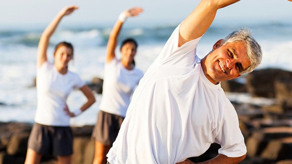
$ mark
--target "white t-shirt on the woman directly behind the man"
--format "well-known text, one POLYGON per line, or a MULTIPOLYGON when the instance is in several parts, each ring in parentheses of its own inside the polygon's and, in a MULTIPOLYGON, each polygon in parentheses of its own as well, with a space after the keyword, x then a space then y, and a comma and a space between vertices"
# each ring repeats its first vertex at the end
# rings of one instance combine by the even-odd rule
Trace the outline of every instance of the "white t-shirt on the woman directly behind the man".
POLYGON ((136 67, 128 70, 116 58, 111 60, 105 66, 99 109, 125 117, 133 90, 142 77, 143 72, 136 67))

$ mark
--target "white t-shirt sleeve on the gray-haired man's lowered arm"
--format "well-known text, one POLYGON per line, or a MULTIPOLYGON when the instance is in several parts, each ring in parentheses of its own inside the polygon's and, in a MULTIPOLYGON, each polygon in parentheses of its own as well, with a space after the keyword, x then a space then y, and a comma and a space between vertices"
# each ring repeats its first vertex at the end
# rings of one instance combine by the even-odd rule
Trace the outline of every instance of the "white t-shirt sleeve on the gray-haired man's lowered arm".
POLYGON ((247 152, 237 113, 230 102, 225 108, 222 127, 215 142, 221 145, 218 153, 227 157, 240 157, 247 152))

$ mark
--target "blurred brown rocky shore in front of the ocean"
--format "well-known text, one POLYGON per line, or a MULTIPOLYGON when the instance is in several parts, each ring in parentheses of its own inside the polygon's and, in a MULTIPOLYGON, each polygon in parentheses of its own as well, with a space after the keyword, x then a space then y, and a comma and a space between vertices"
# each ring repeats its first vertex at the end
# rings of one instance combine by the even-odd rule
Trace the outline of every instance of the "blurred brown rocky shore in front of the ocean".
MULTIPOLYGON (((280 69, 256 70, 244 77, 245 82, 222 82, 228 93, 248 93, 254 98, 271 98, 274 104, 255 105, 232 101, 245 137, 247 157, 240 164, 292 164, 292 72, 280 69)), ((102 92, 102 79, 89 84, 96 93, 102 92)), ((32 125, 28 123, 0 123, 0 164, 23 164, 27 140, 32 125)), ((72 164, 91 164, 94 142, 93 126, 73 127, 72 164)), ((218 154, 218 144, 212 144, 200 157, 201 162, 218 154)), ((41 164, 56 164, 56 159, 44 156, 41 164)))

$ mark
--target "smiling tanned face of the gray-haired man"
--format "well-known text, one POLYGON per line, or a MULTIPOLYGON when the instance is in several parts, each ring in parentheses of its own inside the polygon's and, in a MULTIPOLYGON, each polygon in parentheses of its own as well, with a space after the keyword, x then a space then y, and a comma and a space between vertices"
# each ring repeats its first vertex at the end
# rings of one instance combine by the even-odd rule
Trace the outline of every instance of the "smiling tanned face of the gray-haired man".
POLYGON ((222 39, 213 46, 213 50, 202 59, 203 72, 214 84, 237 78, 240 72, 250 65, 243 42, 226 43, 222 39))

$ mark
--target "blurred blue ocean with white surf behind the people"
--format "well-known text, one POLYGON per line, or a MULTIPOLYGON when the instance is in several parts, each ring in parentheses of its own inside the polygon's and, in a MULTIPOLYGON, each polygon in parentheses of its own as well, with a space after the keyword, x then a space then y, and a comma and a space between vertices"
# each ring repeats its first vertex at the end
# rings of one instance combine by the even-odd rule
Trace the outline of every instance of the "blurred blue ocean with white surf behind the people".
MULTIPOLYGON (((179 22, 168 24, 125 25, 119 40, 133 37, 139 47, 136 66, 144 72, 154 61, 164 43, 179 22)), ((106 45, 112 25, 60 26, 50 40, 48 60, 53 61, 56 43, 69 41, 74 46, 74 59, 69 69, 85 82, 104 76, 106 45)), ((214 23, 199 43, 197 53, 203 57, 220 38, 240 27, 248 27, 263 50, 262 64, 257 69, 281 68, 292 71, 292 23, 285 21, 256 21, 253 23, 214 23)), ((45 26, 0 28, 0 121, 34 122, 37 105, 36 77, 37 44, 45 26)), ((119 47, 116 49, 119 58, 119 47)), ((268 75, 267 75, 268 76, 268 75)), ((238 79, 244 82, 244 78, 238 79)), ((226 93, 231 100, 255 104, 273 104, 266 98, 251 98, 248 94, 226 93)), ((74 126, 94 125, 102 95, 82 115, 71 119, 74 126)), ((70 109, 81 106, 83 94, 74 90, 68 98, 70 109)))

